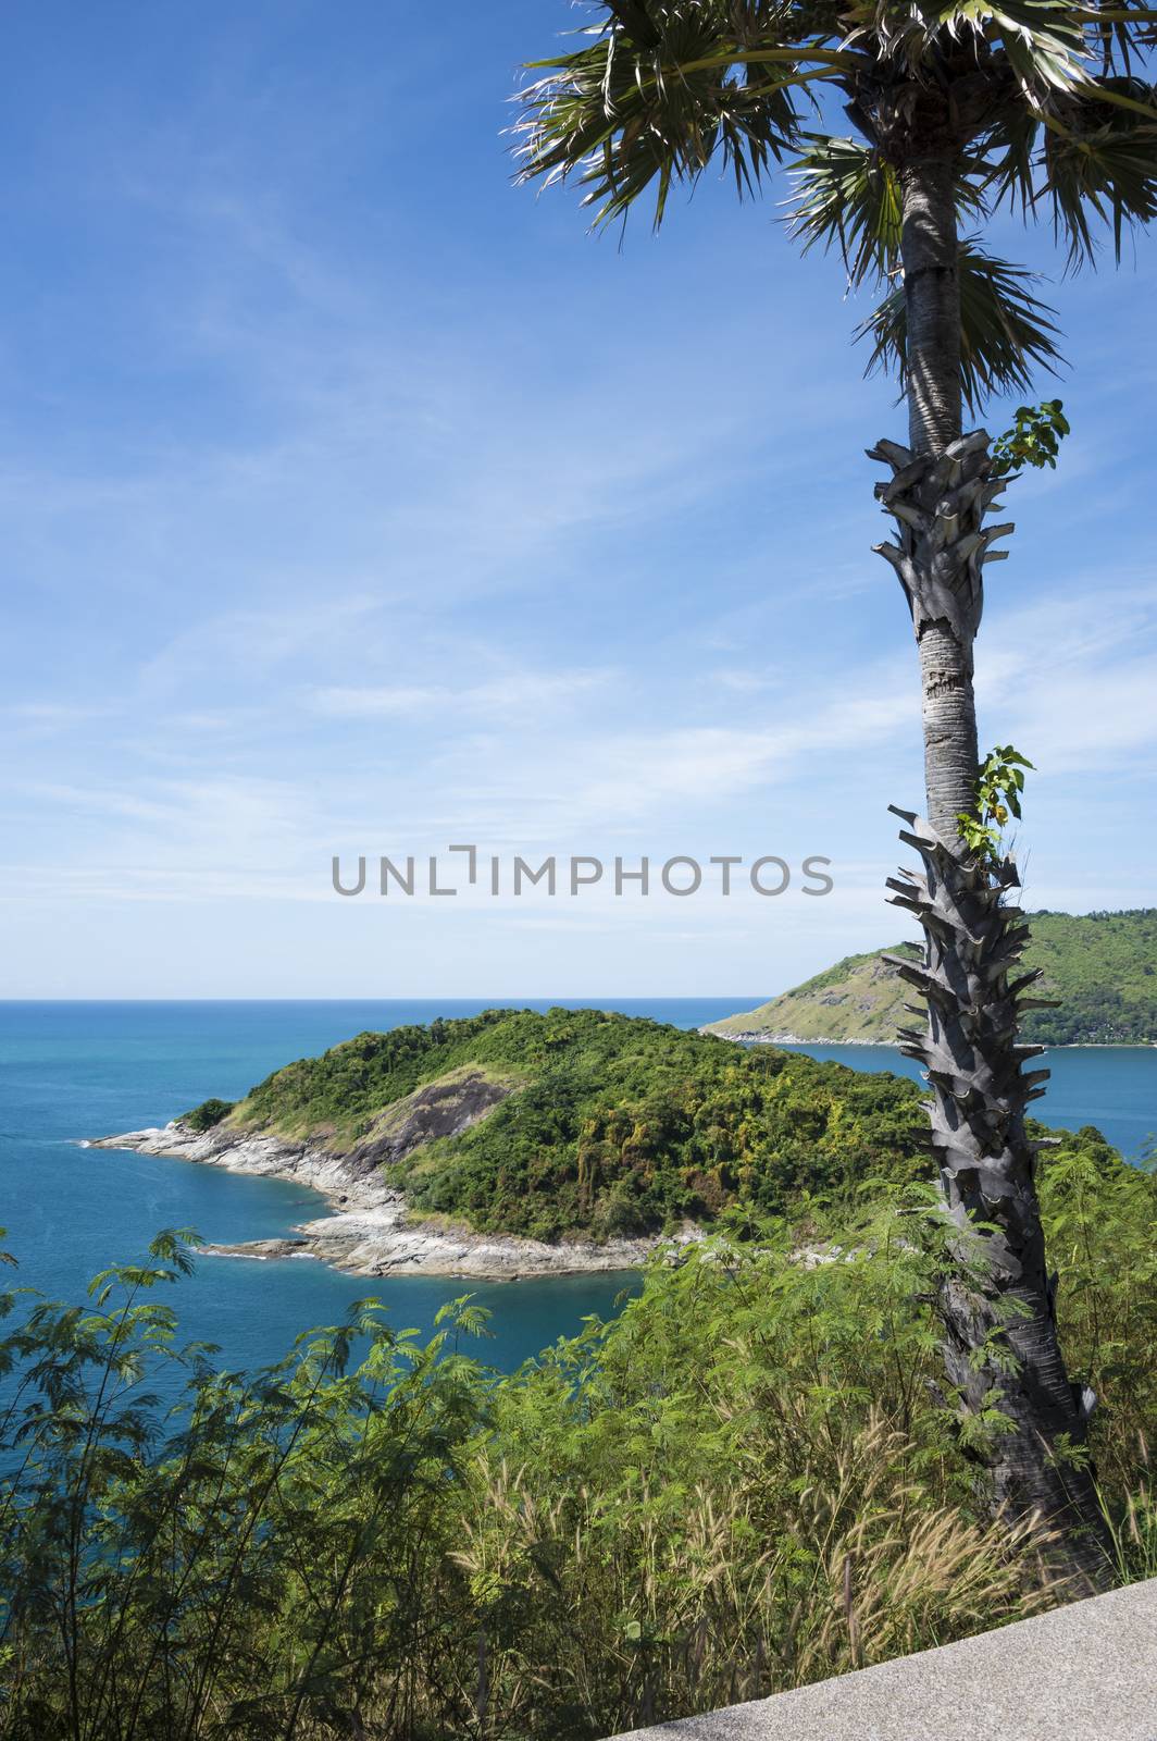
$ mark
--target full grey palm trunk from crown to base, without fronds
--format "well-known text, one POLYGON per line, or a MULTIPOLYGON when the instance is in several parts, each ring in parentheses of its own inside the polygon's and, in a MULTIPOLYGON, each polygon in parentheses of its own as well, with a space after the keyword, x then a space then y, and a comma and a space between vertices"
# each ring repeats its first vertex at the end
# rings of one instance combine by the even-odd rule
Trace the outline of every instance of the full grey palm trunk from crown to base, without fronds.
POLYGON ((894 904, 920 919, 926 938, 922 966, 893 958, 924 998, 913 1015, 926 1015, 926 1027, 900 1038, 927 1069, 941 1193, 960 1227, 960 1269, 940 1301, 948 1377, 967 1414, 995 1400, 1009 1424, 988 1438, 993 1504, 1047 1520, 1058 1530, 1053 1569, 1086 1591, 1110 1581, 1103 1522, 1089 1475, 1058 1462, 1054 1452, 1084 1442, 1093 1398, 1075 1395, 1065 1372, 1035 1144, 1025 1133, 1025 1107, 1044 1092, 1047 1071, 1025 1072, 1025 1060, 1042 1048, 1016 1045, 1018 1013, 1037 975, 1011 978, 1028 937, 1020 909, 1004 905, 1018 883, 1014 865, 976 862, 957 822, 974 804, 981 569, 1000 554, 988 541, 1011 526, 985 529, 1002 482, 992 479, 983 430, 967 437, 960 430, 952 164, 910 162, 901 185, 910 446, 880 442, 872 458, 893 470, 877 496, 896 517, 900 541, 877 548, 905 588, 920 653, 929 820, 898 811, 906 825, 901 839, 919 851, 922 874, 905 870, 889 888, 894 904), (966 1262, 976 1241, 980 1274, 966 1262))

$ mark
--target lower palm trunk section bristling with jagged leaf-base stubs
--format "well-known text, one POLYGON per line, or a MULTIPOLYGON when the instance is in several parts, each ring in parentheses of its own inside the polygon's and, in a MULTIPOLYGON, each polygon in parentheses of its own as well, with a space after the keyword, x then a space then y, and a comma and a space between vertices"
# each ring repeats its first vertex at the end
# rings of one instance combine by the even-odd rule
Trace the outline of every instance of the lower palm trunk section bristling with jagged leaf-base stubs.
POLYGON ((1011 1422, 990 1438, 992 1502, 1060 1525, 1054 1570, 1100 1590, 1108 1565, 1093 1485, 1056 1457, 1082 1445, 1094 1398, 1065 1372, 1037 1207, 1039 1144, 1025 1132, 1025 1109, 1049 1072, 1025 1069, 1044 1046, 1016 1043, 1021 1010, 1040 1003, 1025 996, 1039 971, 1014 973, 1028 938, 1020 907, 1004 904, 1016 867, 1007 858, 969 864, 927 822, 896 815, 924 874, 889 879, 893 902, 920 919, 927 938, 922 966, 884 958, 927 1005, 927 1029, 901 1029, 900 1043, 927 1071, 945 1205, 980 1241, 983 1266, 974 1280, 953 1276, 941 1294, 948 1379, 969 1414, 995 1402, 1011 1422), (1000 1358, 1007 1353, 1011 1370, 1000 1358))

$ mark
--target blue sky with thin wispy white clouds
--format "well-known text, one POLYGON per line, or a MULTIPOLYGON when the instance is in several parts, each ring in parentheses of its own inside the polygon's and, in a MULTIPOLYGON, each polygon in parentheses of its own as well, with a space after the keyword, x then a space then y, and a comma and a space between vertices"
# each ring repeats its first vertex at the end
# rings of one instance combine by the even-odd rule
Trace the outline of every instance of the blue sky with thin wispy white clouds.
MULTIPOLYGON (((0 541, 7 996, 771 994, 903 933, 915 649, 868 308, 776 200, 654 239, 510 183, 562 0, 16 9, 0 541), (809 900, 341 900, 477 841, 809 853, 809 900)), ((1049 237, 1014 258, 1060 277, 1049 237)), ((1154 900, 1154 240, 1046 286, 1075 434, 1016 484, 981 736, 1030 905, 1154 900)), ((1007 406, 993 406, 1002 428, 1007 406)))

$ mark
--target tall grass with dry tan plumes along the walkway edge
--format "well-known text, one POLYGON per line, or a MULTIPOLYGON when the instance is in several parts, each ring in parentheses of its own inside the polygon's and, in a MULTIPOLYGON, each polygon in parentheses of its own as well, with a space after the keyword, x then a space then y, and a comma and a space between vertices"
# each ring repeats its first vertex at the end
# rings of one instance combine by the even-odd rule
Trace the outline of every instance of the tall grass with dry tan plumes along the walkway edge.
POLYGON ((870 1412, 830 1487, 778 1492, 771 1530, 739 1483, 668 1496, 675 1515, 642 1480, 633 1504, 590 1485, 545 1501, 525 1471, 491 1468, 454 1553, 482 1616, 482 1732, 713 1710, 1044 1605, 1025 1584, 1030 1532, 922 1502, 905 1449, 870 1412))

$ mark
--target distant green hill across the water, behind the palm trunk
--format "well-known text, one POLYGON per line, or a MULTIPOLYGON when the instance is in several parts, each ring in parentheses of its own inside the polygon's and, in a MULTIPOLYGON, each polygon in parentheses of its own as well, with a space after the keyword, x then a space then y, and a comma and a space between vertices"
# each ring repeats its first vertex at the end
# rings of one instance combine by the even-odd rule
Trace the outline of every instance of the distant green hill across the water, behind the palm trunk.
MULTIPOLYGON (((1044 968, 1040 996, 1056 1010, 1032 1010, 1025 1038, 1044 1045, 1145 1045, 1157 1041, 1157 907, 1131 912, 1033 912, 1025 965, 1044 968)), ((913 952, 913 944, 894 944, 913 952)), ((887 1045, 903 1025, 912 998, 877 949, 846 956, 795 991, 759 1010, 712 1022, 708 1032, 887 1045)))

